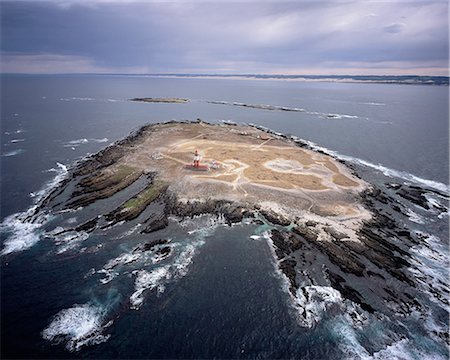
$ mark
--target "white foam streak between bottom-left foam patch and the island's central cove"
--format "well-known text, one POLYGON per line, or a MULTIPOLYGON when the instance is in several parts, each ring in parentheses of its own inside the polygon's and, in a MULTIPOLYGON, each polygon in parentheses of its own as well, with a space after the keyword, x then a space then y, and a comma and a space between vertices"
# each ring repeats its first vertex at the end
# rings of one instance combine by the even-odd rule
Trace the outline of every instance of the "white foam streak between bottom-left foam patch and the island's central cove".
POLYGON ((158 289, 158 292, 164 292, 164 279, 170 279, 170 265, 158 267, 148 272, 146 270, 133 271, 136 275, 134 287, 136 291, 130 296, 131 309, 138 310, 144 302, 143 292, 146 290, 158 289))

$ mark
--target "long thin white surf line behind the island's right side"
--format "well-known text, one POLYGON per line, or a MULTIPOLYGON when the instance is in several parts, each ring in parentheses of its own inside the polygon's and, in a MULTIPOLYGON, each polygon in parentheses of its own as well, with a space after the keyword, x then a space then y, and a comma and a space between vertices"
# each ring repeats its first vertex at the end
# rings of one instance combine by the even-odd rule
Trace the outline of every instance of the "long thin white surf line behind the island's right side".
POLYGON ((419 176, 410 174, 410 173, 408 173, 406 171, 390 169, 390 168, 388 168, 386 166, 383 166, 381 164, 373 164, 373 163, 371 163, 369 161, 362 160, 362 159, 359 159, 359 158, 355 158, 355 157, 352 157, 352 156, 342 155, 342 154, 339 154, 336 151, 333 151, 333 150, 327 149, 325 147, 319 146, 319 145, 315 144, 312 141, 304 141, 304 142, 306 144, 308 144, 314 150, 323 151, 324 153, 326 153, 328 155, 331 155, 331 156, 334 156, 334 157, 336 157, 336 158, 338 158, 340 160, 352 162, 354 164, 363 165, 363 166, 375 169, 375 170, 380 171, 381 173, 383 173, 385 176, 388 176, 388 177, 391 177, 391 178, 399 178, 399 179, 403 179, 403 180, 406 180, 406 181, 411 181, 411 182, 416 183, 416 184, 421 184, 421 185, 424 185, 424 186, 428 186, 428 187, 430 187, 432 189, 436 189, 436 190, 442 191, 442 192, 444 192, 446 194, 448 194, 449 191, 450 191, 449 186, 444 184, 444 183, 441 183, 441 182, 438 182, 438 181, 434 181, 434 180, 424 179, 424 178, 421 178, 419 176))

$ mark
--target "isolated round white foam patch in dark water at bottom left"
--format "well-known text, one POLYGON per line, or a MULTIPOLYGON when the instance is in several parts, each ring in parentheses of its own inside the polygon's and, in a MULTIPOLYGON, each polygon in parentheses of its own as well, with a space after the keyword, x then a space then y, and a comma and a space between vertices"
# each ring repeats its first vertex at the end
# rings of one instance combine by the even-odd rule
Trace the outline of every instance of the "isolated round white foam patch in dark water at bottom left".
POLYGON ((74 305, 61 310, 55 315, 47 328, 42 331, 45 340, 60 343, 66 342, 66 349, 78 351, 85 345, 100 344, 108 340, 104 328, 112 321, 103 324, 106 310, 92 304, 74 305))

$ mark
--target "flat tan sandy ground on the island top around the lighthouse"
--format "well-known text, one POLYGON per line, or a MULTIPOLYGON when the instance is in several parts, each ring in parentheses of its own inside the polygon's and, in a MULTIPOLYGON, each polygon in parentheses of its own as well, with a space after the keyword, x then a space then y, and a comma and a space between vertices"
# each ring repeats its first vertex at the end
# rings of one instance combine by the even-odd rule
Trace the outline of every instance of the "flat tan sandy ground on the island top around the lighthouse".
POLYGON ((329 156, 249 126, 158 125, 122 160, 158 171, 185 200, 227 199, 263 204, 289 217, 305 211, 341 219, 367 218, 355 194, 366 184, 329 156), (207 172, 184 168, 216 164, 207 172))

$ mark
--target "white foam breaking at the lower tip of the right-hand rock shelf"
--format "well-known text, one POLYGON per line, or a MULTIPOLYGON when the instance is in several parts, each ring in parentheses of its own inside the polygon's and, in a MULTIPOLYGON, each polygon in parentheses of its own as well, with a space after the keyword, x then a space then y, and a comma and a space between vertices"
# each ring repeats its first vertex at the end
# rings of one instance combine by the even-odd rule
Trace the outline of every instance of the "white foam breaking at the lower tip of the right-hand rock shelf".
POLYGON ((310 285, 297 290, 295 302, 302 326, 310 328, 319 323, 331 307, 341 307, 343 299, 341 293, 330 286, 310 285))

